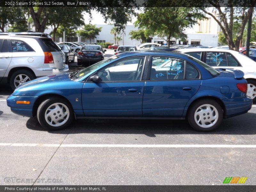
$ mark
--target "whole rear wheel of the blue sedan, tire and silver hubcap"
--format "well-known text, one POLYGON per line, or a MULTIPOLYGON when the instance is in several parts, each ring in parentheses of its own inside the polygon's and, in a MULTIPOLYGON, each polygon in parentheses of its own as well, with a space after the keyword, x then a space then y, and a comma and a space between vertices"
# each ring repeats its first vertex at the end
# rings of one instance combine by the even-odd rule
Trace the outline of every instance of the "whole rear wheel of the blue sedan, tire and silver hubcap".
POLYGON ((187 119, 196 131, 210 132, 220 125, 223 109, 215 100, 202 99, 189 108, 187 119))

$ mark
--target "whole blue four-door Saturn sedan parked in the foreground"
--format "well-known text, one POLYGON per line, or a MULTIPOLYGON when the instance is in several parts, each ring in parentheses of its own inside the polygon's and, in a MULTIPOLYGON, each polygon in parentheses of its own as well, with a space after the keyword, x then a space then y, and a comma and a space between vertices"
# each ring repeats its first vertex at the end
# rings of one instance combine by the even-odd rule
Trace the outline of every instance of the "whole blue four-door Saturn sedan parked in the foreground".
POLYGON ((74 118, 98 117, 187 119, 195 130, 207 132, 223 118, 251 109, 243 76, 183 53, 125 52, 23 84, 7 105, 16 114, 37 116, 47 130, 63 129, 74 118))

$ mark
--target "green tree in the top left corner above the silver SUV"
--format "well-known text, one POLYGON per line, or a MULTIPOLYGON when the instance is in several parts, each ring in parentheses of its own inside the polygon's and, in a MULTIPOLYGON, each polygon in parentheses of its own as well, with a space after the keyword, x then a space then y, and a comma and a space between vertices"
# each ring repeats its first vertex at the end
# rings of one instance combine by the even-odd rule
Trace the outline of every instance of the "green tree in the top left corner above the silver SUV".
POLYGON ((27 31, 26 9, 23 7, 0 7, 0 30, 4 32, 4 27, 8 26, 11 26, 10 31, 27 31))

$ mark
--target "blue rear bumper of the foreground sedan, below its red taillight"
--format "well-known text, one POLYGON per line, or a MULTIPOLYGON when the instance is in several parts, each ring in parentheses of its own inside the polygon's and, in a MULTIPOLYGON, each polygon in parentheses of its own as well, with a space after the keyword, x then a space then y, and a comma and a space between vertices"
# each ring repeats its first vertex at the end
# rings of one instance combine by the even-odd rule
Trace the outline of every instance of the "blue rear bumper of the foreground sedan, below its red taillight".
POLYGON ((226 118, 247 113, 252 108, 252 100, 249 98, 223 99, 226 107, 226 118))

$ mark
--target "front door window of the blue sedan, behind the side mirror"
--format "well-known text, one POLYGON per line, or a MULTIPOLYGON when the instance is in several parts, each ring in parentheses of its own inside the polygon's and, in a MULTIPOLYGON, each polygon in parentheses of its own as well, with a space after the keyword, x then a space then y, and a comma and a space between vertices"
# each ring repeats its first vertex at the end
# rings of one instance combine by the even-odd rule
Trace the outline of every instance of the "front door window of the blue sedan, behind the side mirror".
POLYGON ((98 71, 98 75, 103 82, 139 81, 144 60, 145 57, 135 57, 117 61, 98 71))

